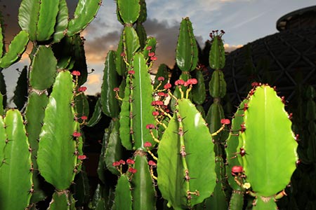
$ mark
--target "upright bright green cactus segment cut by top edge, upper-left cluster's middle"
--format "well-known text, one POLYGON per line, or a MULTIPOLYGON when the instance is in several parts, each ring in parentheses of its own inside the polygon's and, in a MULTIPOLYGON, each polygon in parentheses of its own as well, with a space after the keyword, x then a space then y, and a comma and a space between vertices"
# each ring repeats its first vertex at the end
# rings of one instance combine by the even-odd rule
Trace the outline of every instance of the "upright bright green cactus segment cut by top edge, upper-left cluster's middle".
POLYGON ((48 41, 53 35, 60 0, 39 1, 39 22, 37 22, 37 41, 48 41))

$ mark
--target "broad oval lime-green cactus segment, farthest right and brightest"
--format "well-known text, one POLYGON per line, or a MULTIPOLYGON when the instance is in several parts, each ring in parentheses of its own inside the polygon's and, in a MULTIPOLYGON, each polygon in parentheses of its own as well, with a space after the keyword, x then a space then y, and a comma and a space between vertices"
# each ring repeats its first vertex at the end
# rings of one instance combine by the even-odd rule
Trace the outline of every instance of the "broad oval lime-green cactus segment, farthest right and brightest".
POLYGON ((284 104, 272 87, 256 87, 248 106, 244 112, 246 130, 239 134, 239 148, 244 148, 246 155, 238 158, 252 190, 269 197, 289 184, 296 169, 298 144, 284 104))

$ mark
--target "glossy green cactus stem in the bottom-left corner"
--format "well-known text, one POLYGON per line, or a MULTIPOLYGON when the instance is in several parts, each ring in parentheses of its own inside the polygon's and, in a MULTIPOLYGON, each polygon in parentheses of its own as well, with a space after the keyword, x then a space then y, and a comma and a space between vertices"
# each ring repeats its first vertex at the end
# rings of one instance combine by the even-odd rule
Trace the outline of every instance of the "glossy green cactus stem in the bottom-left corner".
POLYGON ((27 133, 18 110, 0 116, 0 209, 26 209, 34 192, 27 133))

